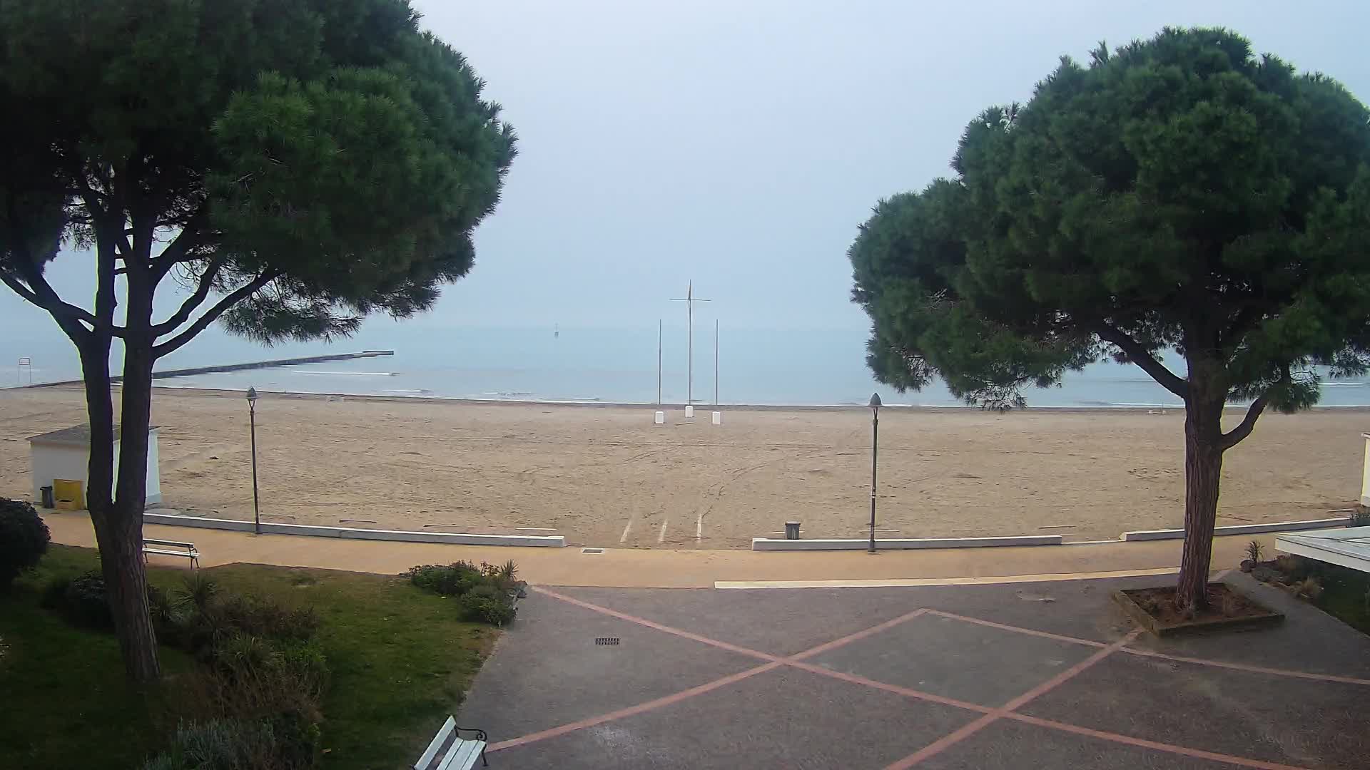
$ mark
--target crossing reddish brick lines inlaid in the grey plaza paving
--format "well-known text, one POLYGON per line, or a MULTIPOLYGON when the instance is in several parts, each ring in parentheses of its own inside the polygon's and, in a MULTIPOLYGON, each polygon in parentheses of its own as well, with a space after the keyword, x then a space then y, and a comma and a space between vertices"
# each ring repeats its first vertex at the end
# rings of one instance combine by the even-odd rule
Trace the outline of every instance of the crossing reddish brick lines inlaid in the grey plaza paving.
POLYGON ((1055 634, 1055 633, 1048 633, 1048 632, 1040 632, 1040 630, 1034 630, 1034 629, 1025 629, 1025 628, 1021 628, 1021 626, 1011 626, 1011 625, 1004 625, 1004 623, 996 623, 996 622, 985 621, 985 619, 981 619, 981 618, 971 618, 971 617, 966 617, 966 615, 956 615, 956 614, 952 614, 952 612, 944 612, 941 610, 929 610, 929 608, 914 610, 911 612, 906 612, 903 615, 899 615, 897 618, 891 618, 889 621, 885 621, 882 623, 874 625, 874 626, 871 626, 869 629, 859 630, 856 633, 852 633, 852 634, 848 634, 848 636, 844 636, 844 637, 840 637, 840 638, 834 638, 832 641, 827 641, 827 643, 821 644, 818 647, 814 647, 811 649, 806 649, 803 652, 799 652, 799 654, 795 654, 795 655, 789 655, 789 656, 781 656, 781 655, 771 655, 769 652, 762 652, 759 649, 749 649, 747 647, 740 647, 740 645, 730 644, 730 643, 726 643, 726 641, 721 641, 721 640, 717 640, 717 638, 710 638, 707 636, 692 633, 692 632, 685 630, 685 629, 677 629, 677 628, 673 628, 673 626, 667 626, 667 625, 663 625, 663 623, 648 621, 645 618, 638 618, 638 617, 634 617, 634 615, 629 615, 626 612, 619 612, 618 610, 611 610, 608 607, 593 604, 590 601, 582 601, 580 599, 575 599, 575 597, 571 597, 571 596, 566 596, 563 593, 558 593, 558 592, 547 589, 547 588, 538 588, 538 586, 529 586, 529 588, 530 588, 530 591, 536 591, 537 593, 541 593, 541 595, 548 596, 551 599, 556 599, 556 600, 560 600, 560 601, 566 601, 569 604, 574 604, 575 607, 590 610, 593 612, 600 612, 600 614, 604 614, 604 615, 608 615, 608 617, 612 617, 612 618, 618 618, 621 621, 627 621, 630 623, 637 623, 640 626, 655 629, 655 630, 662 632, 662 633, 669 633, 669 634, 673 634, 673 636, 678 636, 678 637, 682 637, 682 638, 697 641, 700 644, 708 644, 708 645, 717 647, 719 649, 726 649, 729 652, 736 652, 738 655, 745 655, 748 658, 754 658, 756 660, 762 660, 762 663, 759 666, 752 667, 752 669, 747 669, 747 670, 738 671, 736 674, 729 674, 726 677, 721 677, 721 678, 717 678, 714 681, 710 681, 710 682, 706 682, 706 684, 701 684, 701 685, 696 685, 696 686, 692 686, 689 689, 680 691, 677 693, 671 693, 671 695, 667 695, 667 696, 663 696, 663 697, 648 700, 645 703, 638 703, 637 706, 630 706, 627 708, 619 708, 616 711, 610 711, 607 714, 600 714, 597 717, 589 717, 586 719, 578 719, 575 722, 569 722, 566 725, 560 725, 560 726, 556 726, 556 728, 549 728, 547 730, 538 730, 536 733, 529 733, 526 736, 519 736, 519 737, 510 738, 510 740, 506 740, 506 741, 493 743, 493 744, 490 744, 486 748, 486 751, 490 751, 490 752, 496 752, 496 751, 506 749, 506 748, 514 748, 514 747, 519 747, 519 745, 526 745, 526 744, 530 744, 530 743, 537 743, 537 741, 543 741, 543 740, 548 740, 548 738, 555 738, 558 736, 564 736, 564 734, 575 732, 575 730, 584 730, 584 729, 592 728, 595 725, 603 725, 606 722, 612 722, 615 719, 623 719, 623 718, 627 718, 627 717, 633 717, 633 715, 637 715, 637 714, 652 711, 652 710, 660 708, 663 706, 670 706, 673 703, 680 703, 682 700, 686 700, 686 699, 690 699, 690 697, 695 697, 695 696, 699 696, 699 695, 704 695, 707 692, 712 692, 712 691, 715 691, 718 688, 722 688, 722 686, 727 686, 727 685, 732 685, 732 684, 736 684, 736 682, 741 682, 744 680, 755 677, 756 674, 762 674, 762 673, 766 673, 766 671, 771 671, 774 669, 780 669, 782 666, 788 666, 788 667, 792 667, 792 669, 799 669, 799 670, 803 670, 803 671, 810 671, 810 673, 817 674, 817 675, 832 677, 834 680, 841 680, 844 682, 851 682, 851 684, 855 684, 855 685, 862 685, 862 686, 867 686, 867 688, 873 688, 873 689, 892 692, 892 693, 901 695, 901 696, 906 696, 906 697, 912 697, 912 699, 917 699, 917 700, 926 700, 926 701, 930 701, 930 703, 940 703, 943 706, 951 706, 951 707, 955 707, 955 708, 964 708, 966 711, 974 711, 974 712, 980 714, 980 718, 969 722, 967 725, 964 725, 964 726, 962 726, 962 728, 959 728, 959 729, 956 729, 956 730, 954 730, 951 733, 947 733, 945 736, 934 740, 933 743, 925 745, 923 748, 915 751, 914 754, 910 754, 908 756, 906 756, 906 758, 903 758, 903 759, 900 759, 900 760, 897 760, 897 762, 886 766, 885 770, 904 770, 907 767, 914 767, 918 763, 923 762, 925 759, 929 759, 932 756, 936 756, 936 755, 941 754, 943 751, 951 748, 952 745, 956 745, 958 743, 966 740, 967 737, 978 733, 980 730, 985 729, 986 726, 989 726, 993 722, 997 722, 1000 719, 1012 719, 1015 722, 1021 722, 1021 723, 1025 723, 1025 725, 1033 725, 1033 726, 1037 726, 1037 728, 1044 728, 1044 729, 1051 729, 1051 730, 1060 730, 1060 732, 1064 732, 1064 733, 1073 733, 1073 734, 1078 734, 1078 736, 1088 736, 1088 737, 1092 737, 1092 738, 1100 738, 1100 740, 1106 740, 1106 741, 1114 741, 1114 743, 1126 744, 1126 745, 1138 747, 1138 748, 1148 748, 1148 749, 1155 749, 1155 751, 1163 751, 1163 752, 1170 752, 1170 754, 1175 754, 1175 755, 1181 755, 1181 756, 1189 756, 1189 758, 1195 758, 1195 759, 1210 759, 1210 760, 1215 760, 1215 762, 1225 762, 1228 765, 1234 765, 1237 767, 1258 767, 1258 769, 1263 769, 1263 770, 1300 770, 1300 769, 1297 769, 1295 766, 1291 766, 1291 765, 1280 765, 1280 763, 1275 763, 1275 762, 1263 762, 1263 760, 1259 760, 1259 759, 1249 759, 1249 758, 1244 758, 1244 756, 1233 756, 1233 755, 1228 755, 1228 754, 1217 754, 1217 752, 1211 752, 1211 751, 1203 751, 1203 749, 1196 749, 1196 748, 1189 748, 1189 747, 1182 747, 1182 745, 1175 745, 1175 744, 1167 744, 1167 743, 1160 743, 1160 741, 1151 741, 1151 740, 1138 738, 1138 737, 1133 737, 1133 736, 1125 736, 1125 734, 1119 734, 1119 733, 1110 733, 1110 732, 1104 732, 1104 730, 1095 730, 1092 728, 1084 728, 1084 726, 1071 725, 1071 723, 1067 723, 1067 722, 1058 722, 1055 719, 1043 719, 1043 718, 1038 718, 1038 717, 1030 717, 1028 714, 1021 714, 1018 710, 1022 708, 1023 706, 1026 706, 1028 703, 1036 700, 1037 697, 1041 697, 1043 695, 1045 695, 1045 693, 1056 689, 1062 684, 1064 684, 1064 682, 1075 678, 1081 673, 1084 673, 1084 671, 1089 670, 1091 667, 1093 667, 1095 665, 1097 665, 1100 660, 1108 658, 1110 655, 1115 655, 1118 652, 1122 652, 1122 654, 1126 654, 1126 655, 1144 656, 1144 658, 1159 658, 1159 659, 1173 660, 1173 662, 1180 662, 1180 663, 1195 663, 1195 665, 1200 665, 1200 666, 1214 666, 1214 667, 1219 667, 1219 669, 1229 669, 1229 670, 1237 670, 1237 671, 1248 671, 1248 673, 1258 673, 1258 674, 1271 674, 1271 675, 1278 675, 1278 677, 1295 677, 1295 678, 1315 680, 1315 681, 1325 681, 1325 682, 1370 685, 1370 680, 1360 680, 1360 678, 1355 678, 1355 677, 1338 677, 1338 675, 1332 675, 1332 674, 1312 674, 1312 673, 1307 673, 1307 671, 1291 671, 1291 670, 1284 670, 1284 669, 1266 669, 1266 667, 1260 667, 1260 666, 1247 666, 1247 665, 1243 665, 1243 663, 1229 663, 1229 662, 1223 662, 1223 660, 1206 660, 1206 659, 1200 659, 1200 658, 1182 658, 1182 656, 1177 656, 1177 655, 1166 655, 1166 654, 1154 652, 1154 651, 1149 651, 1149 649, 1137 649, 1137 648, 1128 647, 1141 633, 1138 630, 1130 632, 1130 633, 1125 634, 1122 638, 1118 638, 1118 640, 1115 640, 1112 643, 1101 643, 1101 641, 1093 641, 1093 640, 1088 640, 1088 638, 1077 638, 1077 637, 1071 637, 1071 636, 1062 636, 1062 634, 1055 634), (1070 669, 1066 669, 1064 671, 1060 671, 1059 674, 1056 674, 1056 675, 1054 675, 1054 677, 1051 677, 1051 678, 1040 682, 1038 685, 1036 685, 1032 689, 1029 689, 1028 692, 1023 692, 1022 695, 1014 697, 1008 703, 1004 703, 1003 706, 982 706, 982 704, 978 704, 978 703, 969 703, 969 701, 964 701, 964 700, 958 700, 958 699, 954 699, 954 697, 945 697, 945 696, 934 695, 934 693, 930 693, 930 692, 922 692, 922 691, 917 691, 917 689, 911 689, 911 688, 906 688, 906 686, 900 686, 900 685, 892 685, 892 684, 886 684, 886 682, 880 682, 880 681, 870 680, 870 678, 866 678, 866 677, 860 677, 860 675, 856 675, 856 674, 847 674, 847 673, 843 673, 843 671, 833 671, 833 670, 829 670, 829 669, 823 669, 822 666, 815 666, 812 663, 807 663, 807 660, 810 658, 814 658, 815 655, 821 655, 821 654, 827 652, 830 649, 837 649, 838 647, 843 647, 843 645, 851 644, 854 641, 866 638, 869 636, 877 634, 880 632, 892 629, 892 628, 895 628, 895 626, 897 626, 900 623, 904 623, 907 621, 918 618, 919 615, 937 615, 937 617, 941 617, 941 618, 948 618, 948 619, 960 621, 960 622, 966 622, 966 623, 977 623, 977 625, 981 625, 981 626, 988 626, 988 628, 1000 629, 1000 630, 1006 630, 1006 632, 1022 633, 1022 634, 1029 634, 1029 636, 1036 636, 1036 637, 1043 637, 1043 638, 1052 638, 1052 640, 1056 640, 1056 641, 1064 641, 1064 643, 1070 643, 1070 644, 1080 644, 1080 645, 1085 645, 1085 647, 1093 647, 1093 648, 1097 648, 1097 649, 1089 658, 1085 658, 1084 660, 1081 660, 1080 663, 1075 663, 1070 669))

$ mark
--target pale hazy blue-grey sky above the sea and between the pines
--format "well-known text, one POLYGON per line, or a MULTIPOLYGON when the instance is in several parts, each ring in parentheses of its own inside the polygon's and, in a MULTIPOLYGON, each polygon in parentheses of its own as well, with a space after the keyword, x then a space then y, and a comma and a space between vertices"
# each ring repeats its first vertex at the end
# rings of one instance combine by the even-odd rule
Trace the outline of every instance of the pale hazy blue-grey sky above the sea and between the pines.
MULTIPOLYGON (((1225 25, 1370 99, 1360 0, 418 5, 519 134, 475 269, 418 327, 670 323, 693 278, 701 318, 862 329, 845 249, 870 207, 1099 40, 1225 25)), ((89 304, 88 259, 51 270, 89 304)), ((0 290, 0 327, 51 325, 0 290)))

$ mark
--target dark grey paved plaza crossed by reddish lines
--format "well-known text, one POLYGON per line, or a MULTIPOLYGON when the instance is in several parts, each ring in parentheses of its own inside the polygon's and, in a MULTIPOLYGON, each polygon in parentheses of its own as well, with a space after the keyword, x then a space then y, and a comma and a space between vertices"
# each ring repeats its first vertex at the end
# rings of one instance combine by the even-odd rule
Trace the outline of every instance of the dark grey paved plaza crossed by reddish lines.
POLYGON ((1233 574, 1288 621, 1158 641, 1110 592, 1166 580, 538 586, 459 722, 518 769, 1366 767, 1370 637, 1233 574))

